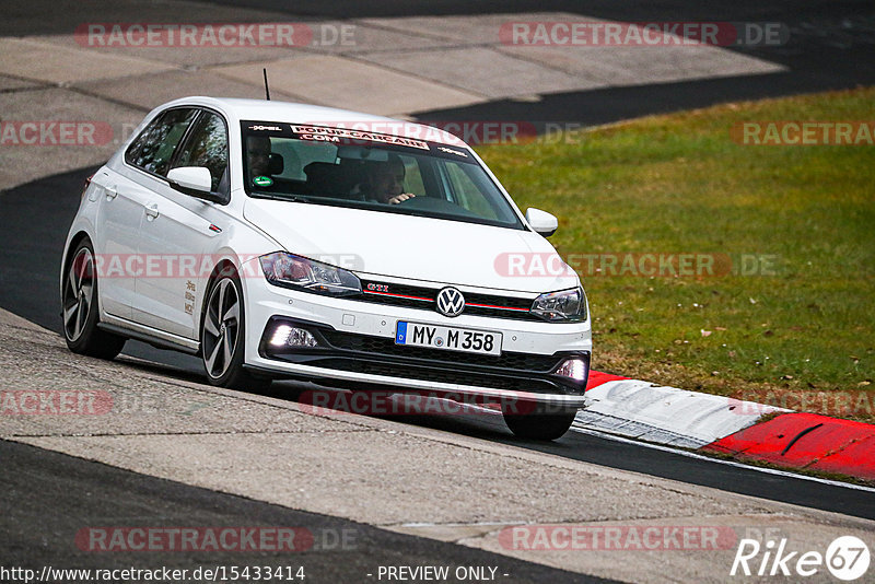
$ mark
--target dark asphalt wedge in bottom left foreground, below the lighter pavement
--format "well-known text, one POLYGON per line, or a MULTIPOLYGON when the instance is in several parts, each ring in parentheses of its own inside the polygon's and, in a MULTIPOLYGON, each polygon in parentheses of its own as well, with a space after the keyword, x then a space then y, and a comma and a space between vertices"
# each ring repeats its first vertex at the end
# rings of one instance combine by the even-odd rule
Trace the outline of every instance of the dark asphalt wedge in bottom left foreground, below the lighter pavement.
POLYGON ((366 580, 368 574, 377 573, 380 565, 452 563, 500 565, 502 572, 513 575, 514 582, 532 584, 545 582, 544 579, 556 583, 606 582, 465 546, 196 489, 24 444, 0 441, 0 459, 4 477, 0 502, 7 515, 0 546, 5 550, 5 563, 23 568, 113 570, 138 565, 142 552, 94 553, 73 548, 70 541, 84 525, 130 525, 136 517, 148 513, 150 521, 164 525, 306 526, 310 530, 306 537, 313 538, 312 547, 291 554, 264 550, 150 553, 150 565, 168 569, 248 564, 293 567, 296 572, 303 567, 304 582, 332 583, 366 580), (40 484, 36 493, 32 492, 34 482, 40 484), (40 524, 44 527, 39 532, 33 529, 40 524))

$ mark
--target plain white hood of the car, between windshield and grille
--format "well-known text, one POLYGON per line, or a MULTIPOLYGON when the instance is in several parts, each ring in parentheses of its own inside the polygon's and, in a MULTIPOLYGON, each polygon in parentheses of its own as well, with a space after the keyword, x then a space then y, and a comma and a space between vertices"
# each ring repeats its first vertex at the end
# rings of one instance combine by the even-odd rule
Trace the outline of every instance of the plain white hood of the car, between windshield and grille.
POLYGON ((287 252, 359 273, 537 293, 578 285, 529 231, 252 198, 244 217, 287 252))

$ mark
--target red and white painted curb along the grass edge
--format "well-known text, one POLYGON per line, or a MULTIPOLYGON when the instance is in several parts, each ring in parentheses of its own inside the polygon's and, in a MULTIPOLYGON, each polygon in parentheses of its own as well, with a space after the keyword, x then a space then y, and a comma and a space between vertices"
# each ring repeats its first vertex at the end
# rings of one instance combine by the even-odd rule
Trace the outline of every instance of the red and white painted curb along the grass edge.
POLYGON ((875 480, 875 425, 593 371, 572 429, 875 480), (761 421, 767 414, 769 419, 761 421))

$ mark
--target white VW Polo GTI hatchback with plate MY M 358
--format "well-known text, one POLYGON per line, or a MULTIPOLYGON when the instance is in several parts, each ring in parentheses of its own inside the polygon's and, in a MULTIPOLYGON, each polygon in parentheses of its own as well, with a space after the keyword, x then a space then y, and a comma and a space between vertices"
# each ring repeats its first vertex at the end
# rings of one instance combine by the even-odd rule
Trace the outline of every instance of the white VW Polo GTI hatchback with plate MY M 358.
POLYGON ((72 351, 127 339, 207 378, 485 399, 552 440, 584 405, 580 279, 467 144, 311 105, 188 97, 88 180, 60 287, 72 351), (522 265, 560 270, 515 269, 522 265), (525 407, 522 407, 525 406, 525 407))

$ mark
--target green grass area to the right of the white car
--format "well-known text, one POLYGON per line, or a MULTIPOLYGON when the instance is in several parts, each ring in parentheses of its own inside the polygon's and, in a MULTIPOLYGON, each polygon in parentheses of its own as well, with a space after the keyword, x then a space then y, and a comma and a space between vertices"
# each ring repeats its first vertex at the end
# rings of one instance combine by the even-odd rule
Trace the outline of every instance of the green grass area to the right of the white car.
POLYGON ((794 409, 821 392, 854 392, 842 398, 850 407, 827 394, 806 409, 873 421, 875 147, 754 147, 730 136, 739 121, 873 119, 875 89, 860 89, 649 117, 480 153, 522 208, 560 218, 551 242, 563 257, 774 259, 771 275, 584 273, 594 369, 794 409))

